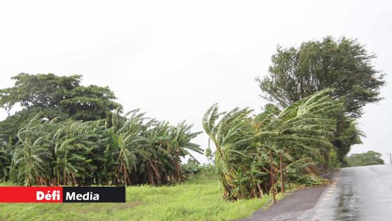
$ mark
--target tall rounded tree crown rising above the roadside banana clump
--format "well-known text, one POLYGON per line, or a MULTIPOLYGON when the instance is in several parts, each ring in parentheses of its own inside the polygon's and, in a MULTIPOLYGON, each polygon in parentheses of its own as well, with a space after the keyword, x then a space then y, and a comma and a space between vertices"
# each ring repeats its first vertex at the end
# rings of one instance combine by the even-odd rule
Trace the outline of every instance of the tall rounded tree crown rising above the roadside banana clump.
POLYGON ((376 55, 354 39, 331 36, 322 41, 307 41, 299 48, 281 48, 272 55, 268 75, 256 79, 262 98, 287 107, 293 102, 335 88, 334 98, 343 98, 345 112, 358 118, 363 106, 381 100, 379 89, 384 74, 372 65, 376 55))

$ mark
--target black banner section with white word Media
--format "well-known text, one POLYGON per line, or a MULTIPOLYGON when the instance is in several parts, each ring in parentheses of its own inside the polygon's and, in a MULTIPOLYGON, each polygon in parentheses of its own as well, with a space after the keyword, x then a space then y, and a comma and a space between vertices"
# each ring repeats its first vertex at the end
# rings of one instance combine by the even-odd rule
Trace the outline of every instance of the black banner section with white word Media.
POLYGON ((125 203, 125 187, 63 187, 64 203, 125 203))

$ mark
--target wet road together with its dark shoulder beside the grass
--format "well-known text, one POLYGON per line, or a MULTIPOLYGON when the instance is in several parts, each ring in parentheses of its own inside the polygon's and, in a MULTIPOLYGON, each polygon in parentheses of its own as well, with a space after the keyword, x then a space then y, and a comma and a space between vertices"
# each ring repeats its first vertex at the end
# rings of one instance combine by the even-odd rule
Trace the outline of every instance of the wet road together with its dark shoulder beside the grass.
POLYGON ((246 220, 392 220, 392 166, 342 168, 332 184, 300 189, 246 220))

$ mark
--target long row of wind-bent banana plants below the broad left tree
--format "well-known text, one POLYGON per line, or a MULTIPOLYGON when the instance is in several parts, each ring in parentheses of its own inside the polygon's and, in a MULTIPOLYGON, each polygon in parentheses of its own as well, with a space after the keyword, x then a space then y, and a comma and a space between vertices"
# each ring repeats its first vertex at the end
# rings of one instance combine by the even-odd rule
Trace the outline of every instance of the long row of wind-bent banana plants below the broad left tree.
POLYGON ((18 130, 18 142, 0 147, 0 180, 25 186, 180 182, 181 157, 202 153, 190 142, 199 134, 191 128, 148 119, 138 109, 94 121, 36 114, 18 130))

